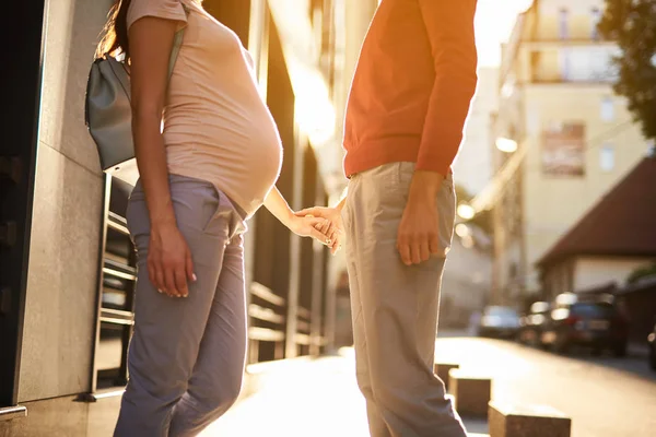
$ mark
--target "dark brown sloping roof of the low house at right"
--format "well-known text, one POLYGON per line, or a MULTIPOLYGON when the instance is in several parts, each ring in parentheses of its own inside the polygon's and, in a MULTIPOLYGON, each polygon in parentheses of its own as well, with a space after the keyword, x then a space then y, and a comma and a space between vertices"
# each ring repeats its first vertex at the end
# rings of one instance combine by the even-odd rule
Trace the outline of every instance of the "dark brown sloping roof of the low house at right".
POLYGON ((576 255, 656 257, 656 158, 645 157, 537 262, 576 255))

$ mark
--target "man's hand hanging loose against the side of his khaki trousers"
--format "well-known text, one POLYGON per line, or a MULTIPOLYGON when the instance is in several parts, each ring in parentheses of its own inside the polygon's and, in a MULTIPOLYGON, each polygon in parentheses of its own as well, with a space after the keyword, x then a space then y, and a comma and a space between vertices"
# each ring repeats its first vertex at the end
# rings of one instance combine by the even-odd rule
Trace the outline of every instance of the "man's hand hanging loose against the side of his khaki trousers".
POLYGON ((437 192, 443 176, 417 170, 397 235, 397 249, 406 265, 427 261, 440 252, 437 192))

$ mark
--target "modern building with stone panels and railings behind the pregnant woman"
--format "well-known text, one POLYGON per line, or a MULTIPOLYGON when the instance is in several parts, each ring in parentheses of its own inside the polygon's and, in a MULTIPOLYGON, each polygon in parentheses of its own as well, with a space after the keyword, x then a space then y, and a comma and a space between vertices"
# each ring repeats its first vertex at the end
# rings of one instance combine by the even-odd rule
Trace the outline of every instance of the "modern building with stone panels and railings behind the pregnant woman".
MULTIPOLYGON (((344 0, 206 0, 256 61, 280 130, 278 187, 293 209, 327 204, 339 184, 353 52, 373 5, 344 0), (290 2, 291 1, 291 2, 290 2), (351 11, 355 15, 350 16, 351 11), (347 27, 354 31, 347 33, 347 27), (351 67, 349 67, 351 66, 351 67), (327 160, 326 156, 332 156, 327 160)), ((0 435, 112 434, 127 378, 134 255, 131 187, 101 172, 84 94, 112 0, 11 4, 22 23, 7 71, 0 152, 0 435), (15 50, 15 51, 14 51, 15 50)), ((355 57, 356 59, 356 57, 355 57)), ((249 363, 330 350, 335 270, 327 250, 271 214, 249 222, 249 363)), ((248 379, 248 378, 247 378, 248 379)))

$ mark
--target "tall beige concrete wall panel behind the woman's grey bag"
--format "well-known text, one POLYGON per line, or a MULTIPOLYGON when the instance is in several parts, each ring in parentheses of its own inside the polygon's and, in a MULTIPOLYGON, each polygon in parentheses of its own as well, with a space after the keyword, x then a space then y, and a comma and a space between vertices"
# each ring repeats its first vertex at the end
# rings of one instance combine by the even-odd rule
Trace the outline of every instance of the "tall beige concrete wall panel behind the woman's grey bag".
POLYGON ((84 92, 110 1, 50 0, 19 401, 87 391, 103 177, 84 92))

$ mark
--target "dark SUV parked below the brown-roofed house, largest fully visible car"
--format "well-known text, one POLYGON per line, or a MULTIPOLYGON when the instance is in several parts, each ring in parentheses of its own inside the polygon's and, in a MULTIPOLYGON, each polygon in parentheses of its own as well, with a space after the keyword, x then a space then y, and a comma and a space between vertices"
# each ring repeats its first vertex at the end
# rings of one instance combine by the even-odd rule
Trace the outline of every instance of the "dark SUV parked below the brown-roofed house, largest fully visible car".
POLYGON ((581 300, 567 294, 557 298, 541 340, 558 353, 576 345, 593 347, 596 354, 610 350, 616 356, 625 356, 628 333, 628 321, 612 298, 581 300))

